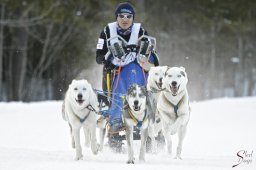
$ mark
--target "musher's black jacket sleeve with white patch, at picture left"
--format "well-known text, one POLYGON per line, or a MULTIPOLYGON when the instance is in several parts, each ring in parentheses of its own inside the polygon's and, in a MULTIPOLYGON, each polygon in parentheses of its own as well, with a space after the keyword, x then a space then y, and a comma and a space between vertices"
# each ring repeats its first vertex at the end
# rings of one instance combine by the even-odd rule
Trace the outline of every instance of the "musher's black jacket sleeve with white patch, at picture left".
POLYGON ((108 52, 107 48, 107 29, 106 27, 101 32, 100 37, 97 42, 96 46, 96 62, 98 64, 104 64, 105 63, 105 55, 108 52))

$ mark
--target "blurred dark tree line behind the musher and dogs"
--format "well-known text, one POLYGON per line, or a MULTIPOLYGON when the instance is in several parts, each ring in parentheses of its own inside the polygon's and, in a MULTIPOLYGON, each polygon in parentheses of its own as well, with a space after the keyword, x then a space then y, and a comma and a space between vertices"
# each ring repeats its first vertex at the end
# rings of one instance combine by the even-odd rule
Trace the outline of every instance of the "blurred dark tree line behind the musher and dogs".
MULTIPOLYGON (((63 99, 95 67, 98 36, 119 2, 1 0, 0 101, 63 99)), ((157 38, 160 64, 186 68, 192 100, 256 95, 255 0, 130 2, 135 22, 157 38)))

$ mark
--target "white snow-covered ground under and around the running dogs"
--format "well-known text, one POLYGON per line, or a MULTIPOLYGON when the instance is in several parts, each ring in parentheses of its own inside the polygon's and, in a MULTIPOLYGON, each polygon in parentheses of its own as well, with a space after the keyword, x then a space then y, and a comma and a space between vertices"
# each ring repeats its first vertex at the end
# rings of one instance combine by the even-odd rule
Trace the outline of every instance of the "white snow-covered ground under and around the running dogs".
MULTIPOLYGON (((255 97, 191 103, 183 160, 162 151, 146 154, 146 162, 139 162, 136 143, 134 165, 125 163, 126 153, 113 153, 107 146, 96 156, 83 147, 84 159, 74 161, 61 104, 0 103, 0 170, 256 169, 255 97)), ((176 144, 174 136, 174 152, 176 144)))

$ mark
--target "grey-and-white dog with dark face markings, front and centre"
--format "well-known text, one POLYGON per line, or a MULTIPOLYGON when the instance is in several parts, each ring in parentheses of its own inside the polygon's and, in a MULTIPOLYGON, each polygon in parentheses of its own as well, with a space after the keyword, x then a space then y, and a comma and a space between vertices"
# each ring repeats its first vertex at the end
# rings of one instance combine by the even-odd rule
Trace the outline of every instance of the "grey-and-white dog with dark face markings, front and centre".
POLYGON ((149 115, 146 110, 146 88, 137 84, 128 89, 123 109, 123 122, 126 129, 126 140, 128 146, 128 164, 134 164, 133 151, 133 128, 141 131, 141 146, 139 160, 145 160, 146 140, 148 137, 149 115))

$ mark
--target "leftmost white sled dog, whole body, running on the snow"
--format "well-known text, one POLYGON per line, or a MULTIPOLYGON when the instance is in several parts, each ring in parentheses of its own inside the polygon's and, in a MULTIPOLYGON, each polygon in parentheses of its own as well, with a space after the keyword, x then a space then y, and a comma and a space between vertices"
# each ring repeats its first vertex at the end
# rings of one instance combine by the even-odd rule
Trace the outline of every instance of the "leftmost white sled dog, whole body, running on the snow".
POLYGON ((87 80, 73 80, 66 92, 62 105, 63 119, 68 121, 72 147, 76 149, 75 160, 83 158, 80 144, 80 129, 83 127, 85 145, 91 144, 94 154, 98 153, 96 140, 96 112, 99 111, 97 96, 87 80))

